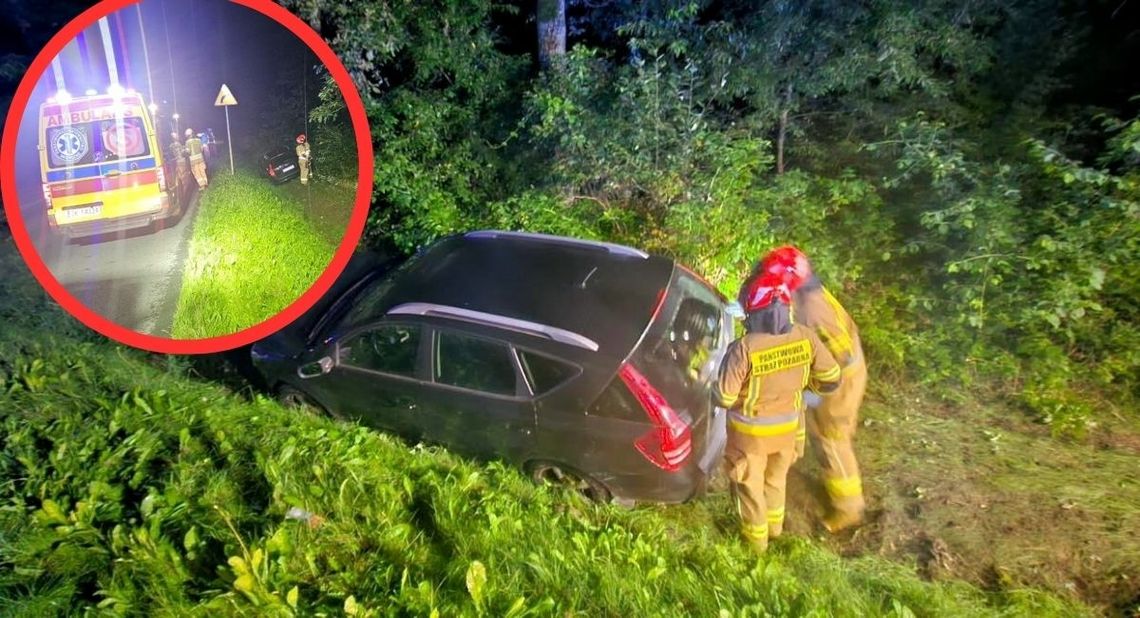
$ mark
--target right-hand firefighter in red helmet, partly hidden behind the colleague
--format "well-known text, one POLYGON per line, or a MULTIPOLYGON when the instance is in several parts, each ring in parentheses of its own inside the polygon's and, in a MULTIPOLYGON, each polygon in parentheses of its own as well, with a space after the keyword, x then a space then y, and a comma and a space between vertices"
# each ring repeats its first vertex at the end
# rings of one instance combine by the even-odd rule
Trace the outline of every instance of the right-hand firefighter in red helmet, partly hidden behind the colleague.
MULTIPOLYGON (((792 322, 812 328, 842 367, 842 384, 833 393, 809 397, 806 433, 823 471, 830 502, 823 526, 831 532, 863 522, 866 501, 853 440, 858 409, 866 391, 866 361, 855 320, 823 287, 811 262, 798 249, 769 252, 754 274, 780 277, 792 292, 792 322)), ((803 445, 803 441, 800 442, 803 445)), ((800 453, 803 453, 800 447, 800 453)))

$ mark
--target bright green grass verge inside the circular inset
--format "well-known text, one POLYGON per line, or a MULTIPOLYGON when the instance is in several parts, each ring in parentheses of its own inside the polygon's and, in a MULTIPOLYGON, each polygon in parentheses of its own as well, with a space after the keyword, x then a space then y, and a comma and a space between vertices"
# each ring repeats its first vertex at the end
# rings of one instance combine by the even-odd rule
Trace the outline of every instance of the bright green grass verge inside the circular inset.
POLYGON ((317 280, 334 250, 268 181, 218 174, 198 203, 174 339, 228 335, 275 316, 317 280))

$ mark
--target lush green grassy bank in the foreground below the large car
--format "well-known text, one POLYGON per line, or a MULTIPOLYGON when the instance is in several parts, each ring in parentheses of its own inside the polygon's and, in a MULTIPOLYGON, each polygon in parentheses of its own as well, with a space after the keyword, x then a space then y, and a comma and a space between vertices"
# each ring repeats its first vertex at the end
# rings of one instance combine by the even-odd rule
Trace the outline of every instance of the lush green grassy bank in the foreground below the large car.
POLYGON ((496 464, 242 400, 180 376, 176 359, 85 334, 10 245, 0 262, 11 274, 0 280, 7 613, 287 615, 291 600, 302 615, 1086 611, 1028 589, 926 583, 803 538, 756 559, 719 496, 595 506, 496 464), (291 506, 324 521, 288 520, 291 506), (715 507, 715 521, 694 523, 694 507, 715 507))

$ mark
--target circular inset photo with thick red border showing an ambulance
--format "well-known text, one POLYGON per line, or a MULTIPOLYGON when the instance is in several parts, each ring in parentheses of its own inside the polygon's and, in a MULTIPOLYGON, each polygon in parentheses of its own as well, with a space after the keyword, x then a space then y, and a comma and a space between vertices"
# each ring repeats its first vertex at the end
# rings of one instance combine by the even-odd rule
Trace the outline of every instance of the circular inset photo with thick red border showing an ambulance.
POLYGON ((107 1, 21 82, 0 153, 28 267, 89 327, 236 348, 328 290, 359 241, 372 144, 348 72, 268 1, 107 1))

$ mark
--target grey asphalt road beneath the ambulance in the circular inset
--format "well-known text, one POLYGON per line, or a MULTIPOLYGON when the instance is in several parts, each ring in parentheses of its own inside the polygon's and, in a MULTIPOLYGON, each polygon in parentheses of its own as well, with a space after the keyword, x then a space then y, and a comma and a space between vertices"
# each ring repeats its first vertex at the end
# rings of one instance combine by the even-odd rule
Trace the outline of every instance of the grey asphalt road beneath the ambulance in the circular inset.
POLYGON ((115 324, 170 338, 190 227, 197 214, 197 190, 192 192, 181 217, 161 229, 152 226, 68 242, 48 227, 43 198, 35 194, 38 180, 21 184, 21 212, 40 258, 56 279, 115 324))

